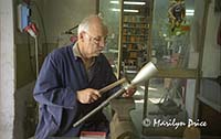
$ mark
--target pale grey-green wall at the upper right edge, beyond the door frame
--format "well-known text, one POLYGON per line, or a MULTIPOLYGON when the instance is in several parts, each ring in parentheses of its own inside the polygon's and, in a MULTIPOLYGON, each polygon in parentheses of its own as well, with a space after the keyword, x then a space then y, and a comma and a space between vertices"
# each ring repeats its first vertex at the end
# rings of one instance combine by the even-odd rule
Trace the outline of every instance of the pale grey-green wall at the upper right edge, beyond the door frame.
POLYGON ((221 22, 221 12, 214 13, 214 0, 211 0, 208 11, 208 22, 202 61, 202 76, 217 78, 221 75, 221 46, 217 44, 218 28, 221 22))

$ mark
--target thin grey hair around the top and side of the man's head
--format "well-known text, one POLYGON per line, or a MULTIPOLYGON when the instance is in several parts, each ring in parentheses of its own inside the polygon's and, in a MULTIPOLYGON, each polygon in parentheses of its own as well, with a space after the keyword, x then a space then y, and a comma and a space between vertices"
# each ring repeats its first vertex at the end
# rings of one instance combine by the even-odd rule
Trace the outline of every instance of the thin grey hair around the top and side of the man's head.
MULTIPOLYGON (((85 19, 82 20, 82 22, 78 24, 78 29, 77 29, 77 34, 80 35, 80 33, 82 31, 88 31, 90 29, 90 22, 93 18, 99 18, 102 21, 103 21, 103 18, 101 15, 97 15, 97 14, 92 14, 85 19)), ((104 26, 106 26, 104 23, 103 23, 104 26)))

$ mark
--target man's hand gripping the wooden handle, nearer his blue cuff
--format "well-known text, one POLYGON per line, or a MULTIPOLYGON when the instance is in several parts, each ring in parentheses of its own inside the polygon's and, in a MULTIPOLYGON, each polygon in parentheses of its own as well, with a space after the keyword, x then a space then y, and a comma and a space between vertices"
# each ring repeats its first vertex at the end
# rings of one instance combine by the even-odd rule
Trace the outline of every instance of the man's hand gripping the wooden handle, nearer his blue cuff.
POLYGON ((78 101, 82 104, 94 103, 101 97, 99 92, 93 88, 82 89, 82 90, 78 90, 76 94, 77 94, 78 101))

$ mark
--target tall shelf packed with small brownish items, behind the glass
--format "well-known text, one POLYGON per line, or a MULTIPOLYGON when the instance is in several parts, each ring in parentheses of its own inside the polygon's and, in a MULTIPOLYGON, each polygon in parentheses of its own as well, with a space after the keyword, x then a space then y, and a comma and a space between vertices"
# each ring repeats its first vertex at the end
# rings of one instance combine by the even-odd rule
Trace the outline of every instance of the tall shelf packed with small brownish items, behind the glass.
MULTIPOLYGON (((143 6, 124 4, 124 9, 138 10, 138 12, 123 12, 123 33, 122 33, 122 45, 123 45, 123 61, 125 66, 134 66, 138 70, 141 65, 140 60, 137 57, 144 56, 147 51, 149 30, 150 30, 150 17, 149 17, 149 1, 140 0, 139 2, 146 2, 143 6)), ((141 62, 143 62, 141 60, 141 62)))

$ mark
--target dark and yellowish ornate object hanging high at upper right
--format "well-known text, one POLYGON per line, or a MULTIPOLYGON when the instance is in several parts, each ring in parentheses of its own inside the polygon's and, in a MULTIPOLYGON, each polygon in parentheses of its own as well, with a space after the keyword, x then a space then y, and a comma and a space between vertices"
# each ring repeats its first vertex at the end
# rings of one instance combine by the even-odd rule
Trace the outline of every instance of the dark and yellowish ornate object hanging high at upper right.
POLYGON ((170 0, 168 14, 169 14, 169 23, 171 26, 171 32, 173 32, 176 28, 180 28, 181 24, 185 22, 186 18, 185 0, 170 0))

